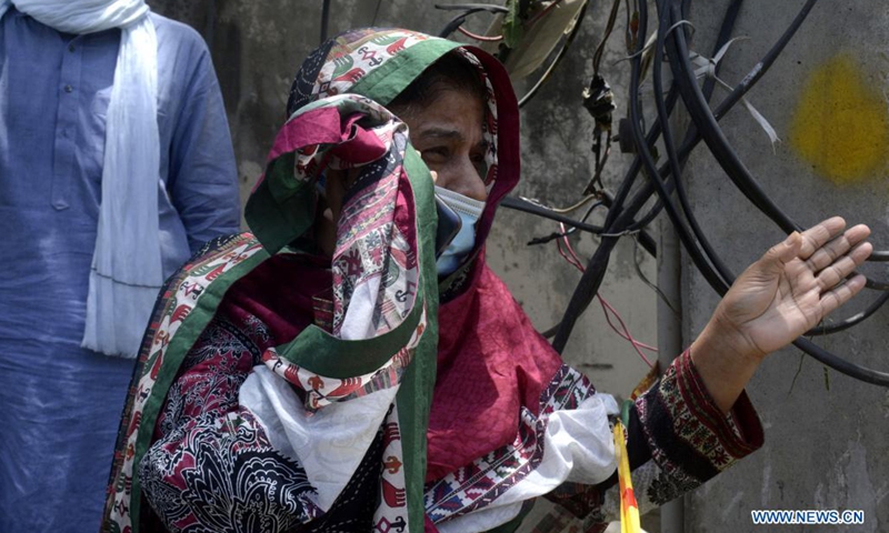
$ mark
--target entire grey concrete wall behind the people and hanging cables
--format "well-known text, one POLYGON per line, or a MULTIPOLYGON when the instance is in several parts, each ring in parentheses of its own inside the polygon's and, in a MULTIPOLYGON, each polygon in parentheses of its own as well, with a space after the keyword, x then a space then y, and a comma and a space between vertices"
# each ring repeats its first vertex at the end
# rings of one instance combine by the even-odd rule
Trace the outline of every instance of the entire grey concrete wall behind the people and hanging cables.
MULTIPOLYGON (((262 171, 266 151, 283 121, 291 77, 319 41, 322 2, 156 0, 150 3, 157 11, 197 28, 211 44, 246 198, 262 171)), ((710 50, 726 3, 726 0, 695 2, 693 48, 702 52, 710 50)), ((729 83, 739 81, 777 39, 801 3, 746 2, 736 34, 750 36, 750 40, 732 47, 725 61, 723 79, 729 83)), ((330 33, 371 24, 434 33, 450 14, 434 10, 432 4, 432 1, 383 0, 378 7, 373 0, 333 0, 330 33)), ((535 197, 551 205, 567 205, 577 200, 590 175, 593 124, 580 105, 580 93, 589 82, 592 52, 601 38, 609 8, 610 2, 592 2, 572 50, 546 91, 522 113, 525 171, 523 183, 517 191, 521 195, 535 197)), ((889 248, 889 239, 885 237, 889 235, 886 209, 889 181, 885 179, 886 164, 880 159, 886 150, 885 143, 872 142, 873 135, 881 139, 881 128, 887 124, 881 119, 886 113, 883 93, 889 71, 885 46, 889 42, 887 17, 879 2, 819 2, 773 71, 750 94, 750 100, 785 140, 775 151, 766 134, 740 107, 722 123, 755 175, 793 218, 811 224, 840 213, 849 220, 868 222, 875 228, 878 248, 889 248), (851 59, 836 59, 840 50, 847 50, 847 58, 851 59), (860 68, 855 67, 858 62, 861 62, 860 68), (837 92, 849 98, 836 102, 821 98, 822 91, 806 93, 807 77, 825 66, 827 74, 816 78, 813 87, 830 86, 825 80, 848 81, 849 72, 858 69, 870 91, 855 92, 857 86, 841 86, 837 92), (803 109, 818 111, 797 115, 801 101, 808 102, 803 109), (838 118, 840 112, 851 118, 838 118), (799 125, 791 135, 793 124, 799 125), (858 139, 856 135, 861 131, 876 133, 870 135, 870 142, 867 139, 846 142, 858 139), (861 149, 862 145, 866 149, 861 149), (866 178, 855 178, 868 165, 866 178)), ((622 18, 623 13, 620 20, 622 18)), ((479 22, 475 29, 483 26, 479 22)), ((629 70, 626 62, 612 63, 623 56, 619 27, 602 63, 619 99, 616 120, 626 113, 629 70)), ((645 87, 643 98, 650 98, 649 93, 650 89, 645 87)), ((647 111, 652 109, 647 104, 647 111)), ((612 152, 605 177, 609 189, 616 188, 628 162, 629 157, 617 150, 612 152)), ((781 238, 780 232, 733 190, 706 150, 699 149, 693 155, 687 180, 702 225, 736 271, 781 238)), ((553 245, 525 245, 531 237, 556 231, 557 225, 507 210, 501 210, 498 217, 489 240, 489 261, 522 302, 533 323, 541 330, 547 329, 561 316, 579 273, 561 260, 553 245)), ((600 219, 593 217, 593 222, 597 220, 600 219)), ((589 254, 596 244, 595 239, 585 235, 577 248, 581 254, 589 254)), ((618 247, 601 293, 621 312, 638 339, 655 343, 657 299, 637 276, 633 255, 632 241, 626 240, 618 247)), ((642 271, 653 280, 655 261, 642 252, 639 255, 642 271)), ((683 266, 688 341, 703 325, 717 299, 690 263, 683 266)), ((867 271, 889 278, 879 266, 867 271)), ((870 298, 873 294, 865 296, 870 298)), ((889 362, 882 356, 887 348, 886 319, 885 313, 879 313, 849 333, 818 342, 855 361, 889 370, 889 362)), ((600 390, 618 394, 628 393, 646 371, 629 344, 608 328, 597 304, 578 322, 566 360, 590 373, 600 390)), ((749 392, 766 426, 766 446, 730 474, 687 497, 686 531, 753 531, 756 526, 751 525, 749 515, 752 509, 833 507, 865 510, 866 525, 832 531, 889 530, 889 446, 886 441, 889 394, 885 390, 860 384, 836 372, 826 374, 821 365, 810 359, 805 359, 800 366, 799 352, 787 350, 763 365, 749 392)), ((647 529, 658 531, 652 522, 647 529)))

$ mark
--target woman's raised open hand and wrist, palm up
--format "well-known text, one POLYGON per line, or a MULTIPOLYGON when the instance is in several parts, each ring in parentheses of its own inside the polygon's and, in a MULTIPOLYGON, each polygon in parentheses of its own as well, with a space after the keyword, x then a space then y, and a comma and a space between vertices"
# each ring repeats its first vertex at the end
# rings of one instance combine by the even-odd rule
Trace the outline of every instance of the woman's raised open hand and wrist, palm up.
POLYGON ((847 279, 870 255, 867 225, 835 217, 793 232, 751 264, 691 348, 710 395, 728 412, 768 353, 816 326, 865 286, 847 279))

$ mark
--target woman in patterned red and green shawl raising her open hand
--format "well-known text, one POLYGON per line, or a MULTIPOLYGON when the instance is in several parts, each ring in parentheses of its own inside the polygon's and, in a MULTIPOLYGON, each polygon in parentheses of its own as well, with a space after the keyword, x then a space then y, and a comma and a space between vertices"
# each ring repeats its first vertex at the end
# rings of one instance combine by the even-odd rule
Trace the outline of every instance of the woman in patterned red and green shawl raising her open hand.
MULTIPOLYGON (((502 67, 406 30, 347 32, 306 60, 288 113, 253 234, 209 247, 156 309, 104 531, 515 531, 541 495, 597 531, 616 509, 618 408, 485 264, 519 175, 502 67), (436 194, 462 221, 438 259, 436 194)), ((761 444, 756 366, 863 284, 838 285, 870 253, 868 229, 843 227, 771 249, 629 406, 640 506, 761 444)))

